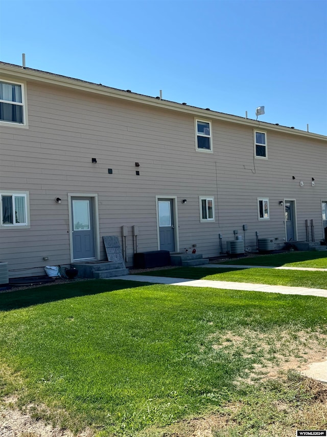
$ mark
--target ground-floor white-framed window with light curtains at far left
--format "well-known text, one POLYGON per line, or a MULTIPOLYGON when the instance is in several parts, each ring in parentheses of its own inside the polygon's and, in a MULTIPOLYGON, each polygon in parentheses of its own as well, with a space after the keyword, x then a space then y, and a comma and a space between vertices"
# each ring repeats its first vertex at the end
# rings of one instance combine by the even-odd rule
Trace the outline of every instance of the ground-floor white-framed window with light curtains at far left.
POLYGON ((29 192, 0 193, 1 227, 30 227, 29 192))

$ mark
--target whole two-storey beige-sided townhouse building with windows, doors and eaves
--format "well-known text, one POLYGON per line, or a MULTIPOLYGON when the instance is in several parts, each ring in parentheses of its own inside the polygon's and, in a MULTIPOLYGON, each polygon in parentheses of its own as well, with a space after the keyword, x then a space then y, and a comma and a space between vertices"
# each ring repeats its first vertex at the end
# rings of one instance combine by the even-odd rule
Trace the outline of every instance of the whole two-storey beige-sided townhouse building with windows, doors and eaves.
POLYGON ((11 278, 104 260, 107 235, 129 266, 158 249, 216 257, 237 235, 249 251, 258 236, 325 238, 325 136, 6 63, 0 74, 11 278))

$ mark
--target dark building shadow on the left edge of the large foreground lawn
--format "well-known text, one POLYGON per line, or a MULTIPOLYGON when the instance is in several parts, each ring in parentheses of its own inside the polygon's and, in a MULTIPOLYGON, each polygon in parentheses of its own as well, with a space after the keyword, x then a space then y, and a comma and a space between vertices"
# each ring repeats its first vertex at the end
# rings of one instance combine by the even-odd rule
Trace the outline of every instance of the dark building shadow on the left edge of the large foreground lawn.
POLYGON ((125 280, 91 279, 68 284, 48 285, 35 288, 16 290, 0 294, 0 311, 25 308, 46 302, 54 302, 78 296, 97 295, 99 293, 113 292, 125 288, 136 288, 152 285, 148 282, 135 282, 125 280))

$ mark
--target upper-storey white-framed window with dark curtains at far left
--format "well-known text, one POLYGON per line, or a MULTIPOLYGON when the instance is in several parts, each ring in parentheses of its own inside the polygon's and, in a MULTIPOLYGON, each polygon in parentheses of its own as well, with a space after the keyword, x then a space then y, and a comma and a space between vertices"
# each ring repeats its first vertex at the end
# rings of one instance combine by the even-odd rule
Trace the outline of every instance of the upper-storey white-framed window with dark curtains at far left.
POLYGON ((0 124, 27 126, 24 84, 0 79, 0 124))

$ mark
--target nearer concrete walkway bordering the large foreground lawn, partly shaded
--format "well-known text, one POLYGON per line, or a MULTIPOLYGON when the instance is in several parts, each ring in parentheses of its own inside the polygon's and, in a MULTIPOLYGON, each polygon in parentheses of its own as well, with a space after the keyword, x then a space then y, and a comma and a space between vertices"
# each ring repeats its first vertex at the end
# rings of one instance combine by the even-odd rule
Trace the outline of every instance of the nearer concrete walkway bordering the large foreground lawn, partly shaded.
POLYGON ((162 276, 126 275, 109 279, 150 282, 153 284, 186 285, 188 287, 224 288, 228 290, 247 290, 253 292, 281 293, 283 295, 301 295, 327 297, 327 290, 320 288, 290 287, 286 285, 252 284, 248 282, 208 281, 206 279, 166 278, 162 276))

